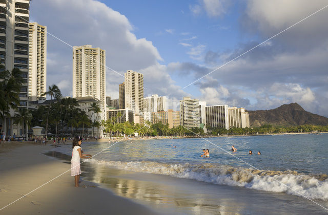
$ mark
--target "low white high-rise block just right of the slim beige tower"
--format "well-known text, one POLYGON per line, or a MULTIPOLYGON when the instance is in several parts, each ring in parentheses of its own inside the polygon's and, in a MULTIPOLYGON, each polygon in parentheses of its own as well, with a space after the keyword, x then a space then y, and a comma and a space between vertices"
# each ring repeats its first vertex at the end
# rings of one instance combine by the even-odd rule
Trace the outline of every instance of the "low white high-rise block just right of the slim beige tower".
POLYGON ((168 111, 166 96, 152 95, 144 98, 145 112, 168 111))

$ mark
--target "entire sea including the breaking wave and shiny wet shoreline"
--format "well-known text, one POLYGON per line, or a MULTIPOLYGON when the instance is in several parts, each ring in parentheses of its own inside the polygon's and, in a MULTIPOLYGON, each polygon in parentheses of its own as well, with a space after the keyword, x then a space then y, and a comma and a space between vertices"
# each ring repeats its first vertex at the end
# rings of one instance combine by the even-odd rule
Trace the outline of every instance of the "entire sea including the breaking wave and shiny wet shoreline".
MULTIPOLYGON (((163 213, 328 212, 324 209, 328 207, 328 134, 83 142, 81 146, 92 155, 105 149, 85 162, 86 180, 163 213), (231 152, 232 145, 237 152, 231 152), (203 148, 209 149, 210 158, 200 157, 203 148)), ((72 149, 62 145, 54 150, 71 155, 72 149)))

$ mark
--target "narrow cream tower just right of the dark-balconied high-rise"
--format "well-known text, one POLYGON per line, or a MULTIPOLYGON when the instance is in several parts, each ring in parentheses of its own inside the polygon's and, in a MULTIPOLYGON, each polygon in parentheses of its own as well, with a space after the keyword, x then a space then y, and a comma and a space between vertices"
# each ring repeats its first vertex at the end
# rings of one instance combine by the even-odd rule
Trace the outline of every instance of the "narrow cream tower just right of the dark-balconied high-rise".
POLYGON ((47 27, 30 23, 29 100, 35 101, 47 91, 47 27))

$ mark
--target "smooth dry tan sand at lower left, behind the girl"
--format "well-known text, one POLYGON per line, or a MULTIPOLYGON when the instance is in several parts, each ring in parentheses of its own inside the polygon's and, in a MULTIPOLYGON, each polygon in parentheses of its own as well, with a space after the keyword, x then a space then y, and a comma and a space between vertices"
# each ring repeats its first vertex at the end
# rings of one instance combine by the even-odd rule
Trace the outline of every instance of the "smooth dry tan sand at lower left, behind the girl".
POLYGON ((91 182, 74 187, 70 171, 63 174, 68 164, 42 154, 51 148, 26 142, 0 144, 0 214, 156 214, 91 182))

